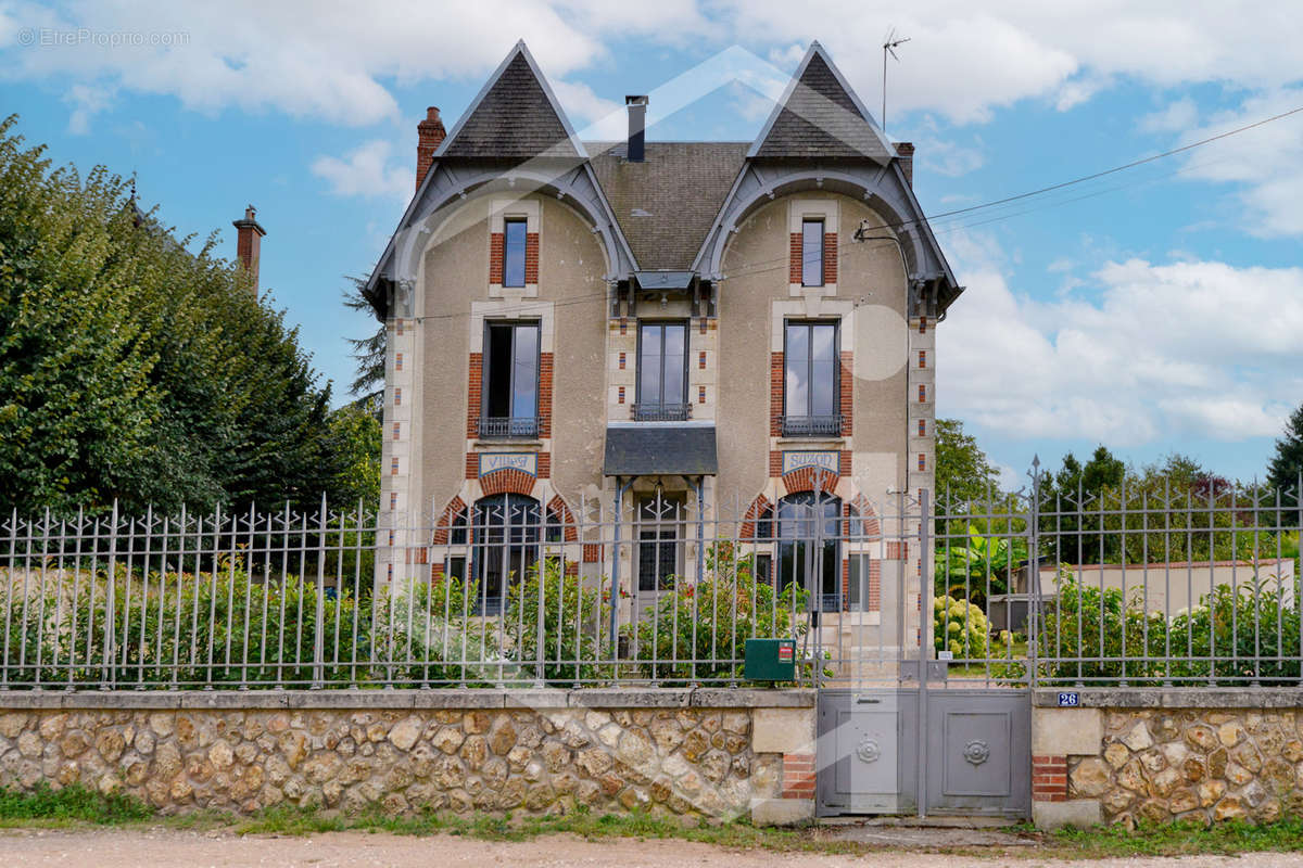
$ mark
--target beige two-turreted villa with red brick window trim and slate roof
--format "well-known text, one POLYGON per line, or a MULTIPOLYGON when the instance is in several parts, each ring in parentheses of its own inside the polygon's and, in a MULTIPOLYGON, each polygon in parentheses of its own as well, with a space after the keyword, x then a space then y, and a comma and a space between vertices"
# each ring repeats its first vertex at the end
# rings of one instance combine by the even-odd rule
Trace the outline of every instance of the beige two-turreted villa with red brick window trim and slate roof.
POLYGON ((625 139, 581 141, 517 43, 451 130, 420 124, 366 285, 378 576, 470 573, 493 606, 554 545, 633 606, 732 535, 770 579, 872 610, 917 532, 876 504, 932 487, 936 327, 963 289, 913 147, 818 43, 751 142, 655 141, 649 102, 627 98, 625 139), (810 511, 864 545, 803 545, 810 511))

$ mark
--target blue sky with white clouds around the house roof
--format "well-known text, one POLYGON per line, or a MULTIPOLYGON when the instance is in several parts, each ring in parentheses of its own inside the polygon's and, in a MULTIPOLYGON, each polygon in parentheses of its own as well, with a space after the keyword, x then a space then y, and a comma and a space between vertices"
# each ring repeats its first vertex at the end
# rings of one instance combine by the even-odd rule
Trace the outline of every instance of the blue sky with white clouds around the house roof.
POLYGON ((938 414, 1016 487, 1108 445, 1261 476, 1303 403, 1303 112, 1003 206, 975 206, 1303 107, 1294 3, 0 0, 0 113, 56 164, 137 176, 197 247, 253 203, 262 286, 347 400, 347 311, 451 129, 525 39, 585 138, 652 94, 650 141, 751 141, 809 42, 886 130, 967 286, 937 332, 938 414), (952 213, 959 211, 959 213, 952 213))

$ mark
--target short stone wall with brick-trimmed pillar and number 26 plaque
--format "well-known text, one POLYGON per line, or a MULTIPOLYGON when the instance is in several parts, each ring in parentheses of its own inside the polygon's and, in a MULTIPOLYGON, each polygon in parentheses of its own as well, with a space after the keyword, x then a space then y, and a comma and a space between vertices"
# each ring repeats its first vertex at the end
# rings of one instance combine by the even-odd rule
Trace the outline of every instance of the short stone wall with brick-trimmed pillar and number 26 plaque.
MULTIPOLYGON (((1048 703, 1057 694, 1037 696, 1048 703)), ((1303 811, 1296 690, 1080 691, 1035 708, 1038 825, 1268 822, 1303 811)))

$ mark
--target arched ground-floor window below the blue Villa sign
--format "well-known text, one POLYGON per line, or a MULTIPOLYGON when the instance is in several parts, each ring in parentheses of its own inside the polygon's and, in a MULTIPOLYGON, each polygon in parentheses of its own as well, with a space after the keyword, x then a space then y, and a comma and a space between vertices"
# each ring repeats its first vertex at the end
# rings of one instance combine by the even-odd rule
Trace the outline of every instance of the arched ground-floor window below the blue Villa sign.
POLYGON ((473 571, 483 614, 500 614, 507 590, 538 561, 541 531, 542 510, 533 497, 508 493, 476 501, 473 571))

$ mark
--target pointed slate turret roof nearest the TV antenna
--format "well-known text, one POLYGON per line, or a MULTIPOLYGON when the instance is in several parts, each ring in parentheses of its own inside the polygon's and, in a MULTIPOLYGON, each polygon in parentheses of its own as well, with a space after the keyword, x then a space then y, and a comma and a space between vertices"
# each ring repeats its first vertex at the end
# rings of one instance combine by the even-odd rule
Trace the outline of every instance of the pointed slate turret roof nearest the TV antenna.
POLYGON ((895 148, 814 42, 748 156, 866 157, 886 164, 895 148))

